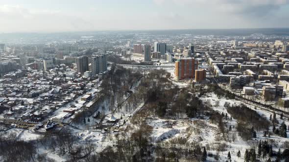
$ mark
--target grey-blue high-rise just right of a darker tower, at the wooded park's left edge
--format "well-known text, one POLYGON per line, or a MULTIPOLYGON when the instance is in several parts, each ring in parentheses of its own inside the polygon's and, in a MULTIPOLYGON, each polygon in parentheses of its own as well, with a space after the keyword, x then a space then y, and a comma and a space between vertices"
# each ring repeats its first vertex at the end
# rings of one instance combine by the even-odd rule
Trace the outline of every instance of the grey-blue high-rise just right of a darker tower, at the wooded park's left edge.
POLYGON ((91 58, 92 75, 99 74, 107 70, 106 55, 97 55, 91 58))

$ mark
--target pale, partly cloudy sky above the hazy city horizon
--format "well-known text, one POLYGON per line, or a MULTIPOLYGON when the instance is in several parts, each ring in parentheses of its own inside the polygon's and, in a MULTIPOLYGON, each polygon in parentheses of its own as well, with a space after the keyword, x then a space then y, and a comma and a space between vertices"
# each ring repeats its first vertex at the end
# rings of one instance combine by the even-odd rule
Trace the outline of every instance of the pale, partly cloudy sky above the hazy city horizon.
POLYGON ((289 27, 289 0, 0 0, 0 33, 289 27))

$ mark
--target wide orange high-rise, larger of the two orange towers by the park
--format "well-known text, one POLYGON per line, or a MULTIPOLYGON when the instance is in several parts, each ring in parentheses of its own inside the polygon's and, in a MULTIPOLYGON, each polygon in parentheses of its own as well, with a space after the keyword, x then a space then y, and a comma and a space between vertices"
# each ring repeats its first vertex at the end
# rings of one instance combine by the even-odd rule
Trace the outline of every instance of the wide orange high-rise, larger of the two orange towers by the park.
POLYGON ((192 79, 195 77, 195 70, 198 69, 198 61, 193 58, 182 58, 175 62, 176 80, 192 79))

